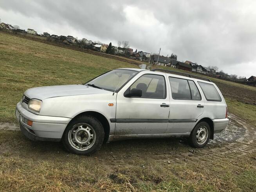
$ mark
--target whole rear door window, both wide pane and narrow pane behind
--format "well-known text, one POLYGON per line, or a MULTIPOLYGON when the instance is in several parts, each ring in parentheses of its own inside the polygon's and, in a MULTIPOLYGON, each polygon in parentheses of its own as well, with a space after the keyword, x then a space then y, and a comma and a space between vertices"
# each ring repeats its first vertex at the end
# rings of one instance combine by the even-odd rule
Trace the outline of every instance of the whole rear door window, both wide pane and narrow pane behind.
POLYGON ((201 100, 196 84, 187 79, 169 77, 173 99, 201 100))

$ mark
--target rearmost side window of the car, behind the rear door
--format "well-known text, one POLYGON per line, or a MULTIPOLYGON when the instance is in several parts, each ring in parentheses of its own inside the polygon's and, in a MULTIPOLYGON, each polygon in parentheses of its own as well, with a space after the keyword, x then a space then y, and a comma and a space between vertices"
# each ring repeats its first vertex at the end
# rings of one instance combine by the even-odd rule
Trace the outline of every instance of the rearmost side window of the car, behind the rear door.
POLYGON ((213 84, 198 82, 199 86, 201 87, 206 100, 208 101, 221 101, 220 94, 216 90, 213 84))

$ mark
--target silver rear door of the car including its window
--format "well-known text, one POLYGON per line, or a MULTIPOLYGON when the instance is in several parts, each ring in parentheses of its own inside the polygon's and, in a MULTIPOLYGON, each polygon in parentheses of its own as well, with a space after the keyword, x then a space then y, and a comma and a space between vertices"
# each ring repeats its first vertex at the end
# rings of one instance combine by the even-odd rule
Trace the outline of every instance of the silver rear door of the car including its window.
POLYGON ((204 112, 204 100, 193 79, 168 76, 170 115, 166 133, 190 133, 204 112))

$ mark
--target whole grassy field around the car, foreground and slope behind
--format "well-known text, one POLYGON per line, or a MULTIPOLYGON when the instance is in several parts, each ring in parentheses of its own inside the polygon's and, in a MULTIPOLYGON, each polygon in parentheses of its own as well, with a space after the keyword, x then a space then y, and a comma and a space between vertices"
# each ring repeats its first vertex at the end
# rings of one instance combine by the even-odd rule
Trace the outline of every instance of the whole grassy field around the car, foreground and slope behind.
MULTIPOLYGON (((138 68, 0 33, 0 122, 15 122, 16 103, 28 88, 81 84, 124 67, 138 68)), ((248 90, 254 98, 256 93, 256 88, 211 80, 220 89, 229 86, 233 95, 248 90)), ((225 94, 229 111, 255 127, 256 106, 225 94)), ((60 143, 31 142, 20 131, 0 130, 0 191, 256 191, 255 153, 236 157, 222 155, 221 146, 209 147, 190 157, 183 140, 131 140, 106 144, 87 157, 67 153, 60 143)))

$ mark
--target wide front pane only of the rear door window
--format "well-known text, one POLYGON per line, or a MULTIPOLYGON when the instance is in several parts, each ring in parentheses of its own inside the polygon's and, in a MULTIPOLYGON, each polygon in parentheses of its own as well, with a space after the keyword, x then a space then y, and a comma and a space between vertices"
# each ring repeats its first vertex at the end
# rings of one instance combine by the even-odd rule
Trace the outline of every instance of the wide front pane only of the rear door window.
POLYGON ((169 81, 171 84, 171 95, 173 99, 191 99, 189 85, 186 79, 169 77, 169 81))

